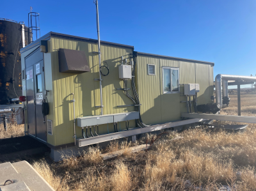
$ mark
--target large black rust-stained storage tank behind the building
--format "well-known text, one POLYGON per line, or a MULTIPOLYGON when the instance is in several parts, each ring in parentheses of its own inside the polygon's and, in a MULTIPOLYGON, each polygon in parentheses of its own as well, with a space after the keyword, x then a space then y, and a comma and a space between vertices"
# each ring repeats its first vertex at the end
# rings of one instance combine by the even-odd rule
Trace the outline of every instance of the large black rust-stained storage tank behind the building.
POLYGON ((0 19, 0 104, 22 96, 20 49, 28 44, 28 27, 0 19))

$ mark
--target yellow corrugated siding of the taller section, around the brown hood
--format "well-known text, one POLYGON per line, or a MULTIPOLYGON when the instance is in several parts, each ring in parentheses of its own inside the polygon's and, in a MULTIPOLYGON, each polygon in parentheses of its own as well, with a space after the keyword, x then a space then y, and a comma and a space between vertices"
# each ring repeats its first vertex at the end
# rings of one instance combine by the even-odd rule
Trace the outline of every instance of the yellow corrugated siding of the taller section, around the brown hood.
MULTIPOLYGON (((73 128, 73 103, 71 93, 75 94, 76 118, 83 116, 99 115, 100 93, 99 93, 99 65, 97 52, 97 44, 88 42, 76 42, 60 38, 51 38, 52 46, 52 77, 54 92, 54 128, 56 142, 55 145, 67 144, 74 142, 73 128), (81 74, 60 73, 58 64, 59 49, 84 50, 90 66, 90 72, 81 74)), ((120 65, 120 57, 129 57, 132 53, 131 49, 101 46, 102 61, 106 60, 109 65, 109 75, 102 76, 102 94, 104 114, 113 114, 118 112, 134 111, 134 107, 116 107, 117 105, 132 104, 123 91, 116 88, 123 87, 123 81, 118 79, 118 65, 120 65)), ((128 82, 131 88, 131 80, 128 82)), ((130 92, 131 93, 131 92, 130 92)), ((132 94, 132 93, 131 93, 132 94)), ((135 126, 134 121, 130 121, 130 126, 135 126)), ((125 123, 121 123, 120 127, 125 128, 125 123)), ((119 125, 118 125, 119 129, 119 125)), ((113 132, 113 124, 100 125, 99 133, 103 134, 113 132)), ((81 128, 76 128, 77 137, 82 137, 81 128)))

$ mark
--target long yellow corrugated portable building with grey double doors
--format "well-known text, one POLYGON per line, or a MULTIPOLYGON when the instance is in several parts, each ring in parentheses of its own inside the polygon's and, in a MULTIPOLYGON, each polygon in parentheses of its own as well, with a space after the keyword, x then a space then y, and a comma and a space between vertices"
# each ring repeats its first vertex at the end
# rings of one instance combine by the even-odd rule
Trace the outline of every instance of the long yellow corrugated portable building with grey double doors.
POLYGON ((134 52, 132 46, 111 42, 100 42, 100 52, 101 65, 108 65, 105 69, 109 70, 108 75, 102 75, 103 116, 97 40, 50 32, 20 51, 22 93, 26 96, 24 128, 28 135, 51 147, 54 160, 60 159, 61 149, 78 153, 89 144, 202 120, 181 118, 187 111, 184 84, 199 84, 198 104, 211 103, 214 63, 134 52), (126 88, 134 98, 131 72, 122 71, 131 71, 135 60, 140 106, 134 106, 136 103, 124 93, 126 88), (43 100, 49 103, 45 118, 43 100), (148 126, 138 128, 140 115, 134 107, 140 107, 141 119, 148 126), (94 137, 88 138, 86 130, 94 137))

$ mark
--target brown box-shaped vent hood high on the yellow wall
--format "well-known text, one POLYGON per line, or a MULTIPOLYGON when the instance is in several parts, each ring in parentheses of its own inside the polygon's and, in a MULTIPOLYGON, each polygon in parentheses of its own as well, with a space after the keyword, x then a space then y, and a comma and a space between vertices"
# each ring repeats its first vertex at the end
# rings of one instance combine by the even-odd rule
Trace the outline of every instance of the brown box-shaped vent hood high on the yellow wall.
POLYGON ((60 49, 59 70, 62 73, 90 72, 84 51, 60 49))

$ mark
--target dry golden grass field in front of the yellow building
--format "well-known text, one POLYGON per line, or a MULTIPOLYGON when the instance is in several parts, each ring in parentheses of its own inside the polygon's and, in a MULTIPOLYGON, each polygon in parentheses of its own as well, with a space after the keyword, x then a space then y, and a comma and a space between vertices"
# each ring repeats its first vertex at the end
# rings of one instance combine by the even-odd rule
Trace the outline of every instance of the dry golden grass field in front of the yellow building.
MULTIPOLYGON (((230 107, 221 114, 237 115, 236 96, 230 95, 230 107)), ((256 95, 241 95, 241 102, 242 115, 256 116, 256 95)), ((243 133, 201 126, 164 134, 147 151, 106 161, 100 153, 132 144, 112 142, 107 150, 90 148, 83 157, 63 156, 62 162, 45 156, 29 162, 56 190, 256 190, 255 137, 253 124, 243 133), (177 136, 182 139, 173 141, 177 136)), ((136 144, 152 139, 156 135, 148 134, 136 144)))

